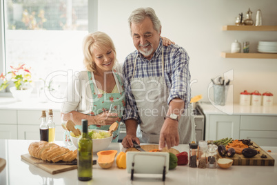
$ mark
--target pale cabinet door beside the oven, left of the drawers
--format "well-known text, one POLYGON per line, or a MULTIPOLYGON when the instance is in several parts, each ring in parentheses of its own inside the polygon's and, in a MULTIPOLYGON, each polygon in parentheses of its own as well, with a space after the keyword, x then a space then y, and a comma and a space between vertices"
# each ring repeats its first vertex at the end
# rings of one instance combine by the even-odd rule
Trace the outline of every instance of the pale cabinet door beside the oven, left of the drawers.
POLYGON ((206 125, 209 132, 207 140, 217 140, 225 137, 238 139, 240 137, 240 116, 239 115, 209 115, 209 125, 206 125))

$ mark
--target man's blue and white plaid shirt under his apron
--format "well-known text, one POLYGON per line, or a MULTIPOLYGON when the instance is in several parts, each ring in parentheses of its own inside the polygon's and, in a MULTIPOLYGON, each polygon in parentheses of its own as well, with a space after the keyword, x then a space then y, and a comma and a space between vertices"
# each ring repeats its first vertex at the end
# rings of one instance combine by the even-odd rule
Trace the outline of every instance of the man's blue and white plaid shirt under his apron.
POLYGON ((165 83, 170 90, 170 95, 167 98, 167 104, 170 104, 172 99, 180 98, 185 101, 185 108, 190 103, 190 73, 189 73, 189 56, 184 48, 178 45, 163 46, 163 41, 160 38, 158 48, 154 52, 152 59, 149 61, 143 58, 137 50, 130 53, 125 58, 123 64, 124 88, 126 93, 126 105, 123 120, 136 119, 141 123, 139 113, 136 108, 136 100, 132 94, 131 79, 134 70, 134 61, 136 59, 136 69, 134 78, 144 77, 161 77, 162 73, 162 49, 164 55, 164 72, 165 83))

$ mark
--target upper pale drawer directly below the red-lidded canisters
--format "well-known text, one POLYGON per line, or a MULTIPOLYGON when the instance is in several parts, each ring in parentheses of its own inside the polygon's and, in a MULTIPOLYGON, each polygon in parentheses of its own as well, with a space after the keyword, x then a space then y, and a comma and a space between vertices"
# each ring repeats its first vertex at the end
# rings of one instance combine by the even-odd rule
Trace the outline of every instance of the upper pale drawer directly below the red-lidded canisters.
POLYGON ((241 116, 240 130, 276 130, 276 116, 241 116))

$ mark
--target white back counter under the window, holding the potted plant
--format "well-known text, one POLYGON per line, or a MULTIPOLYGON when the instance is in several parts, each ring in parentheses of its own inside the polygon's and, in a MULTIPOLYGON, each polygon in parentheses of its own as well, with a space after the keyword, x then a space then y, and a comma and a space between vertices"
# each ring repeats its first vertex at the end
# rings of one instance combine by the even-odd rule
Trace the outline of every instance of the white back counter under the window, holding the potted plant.
POLYGON ((0 110, 48 110, 49 108, 60 110, 61 103, 39 102, 35 97, 25 101, 16 101, 13 97, 0 97, 0 110))

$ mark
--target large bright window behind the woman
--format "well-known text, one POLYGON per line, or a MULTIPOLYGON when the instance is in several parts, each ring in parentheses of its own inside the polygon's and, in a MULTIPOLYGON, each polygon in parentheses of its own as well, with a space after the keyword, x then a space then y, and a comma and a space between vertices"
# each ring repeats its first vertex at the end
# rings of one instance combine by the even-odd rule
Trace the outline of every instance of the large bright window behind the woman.
MULTIPOLYGON (((1 72, 10 66, 31 67, 33 79, 52 72, 83 69, 83 37, 95 31, 97 1, 1 1, 1 72), (91 10, 89 12, 88 10, 91 10), (92 14, 93 12, 93 14, 92 14)), ((63 81, 66 77, 55 77, 63 81)), ((54 79, 54 80, 55 80, 54 79)))

